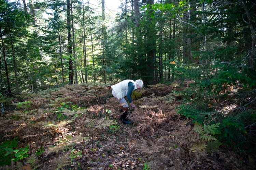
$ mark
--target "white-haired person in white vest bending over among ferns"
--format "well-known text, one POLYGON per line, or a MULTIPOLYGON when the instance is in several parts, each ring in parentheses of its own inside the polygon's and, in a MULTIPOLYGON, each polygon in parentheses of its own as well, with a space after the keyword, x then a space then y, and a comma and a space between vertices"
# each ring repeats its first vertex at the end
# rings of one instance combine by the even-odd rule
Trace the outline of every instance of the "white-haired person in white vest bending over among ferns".
POLYGON ((127 99, 131 104, 132 108, 135 108, 135 105, 131 98, 131 92, 142 87, 142 80, 136 80, 135 82, 133 80, 124 80, 111 86, 113 96, 117 98, 119 103, 121 104, 120 113, 123 114, 120 116, 120 119, 121 121, 123 121, 124 124, 131 124, 131 122, 127 118, 129 105, 124 97, 127 96, 127 99))

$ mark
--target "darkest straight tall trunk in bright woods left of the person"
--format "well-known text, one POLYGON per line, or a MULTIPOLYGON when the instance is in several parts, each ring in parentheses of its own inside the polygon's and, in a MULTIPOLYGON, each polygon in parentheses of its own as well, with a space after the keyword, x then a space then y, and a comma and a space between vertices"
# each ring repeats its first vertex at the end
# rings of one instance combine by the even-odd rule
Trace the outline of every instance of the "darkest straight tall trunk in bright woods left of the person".
POLYGON ((70 21, 70 0, 67 0, 67 29, 68 29, 68 53, 69 53, 69 84, 73 84, 72 40, 70 21))

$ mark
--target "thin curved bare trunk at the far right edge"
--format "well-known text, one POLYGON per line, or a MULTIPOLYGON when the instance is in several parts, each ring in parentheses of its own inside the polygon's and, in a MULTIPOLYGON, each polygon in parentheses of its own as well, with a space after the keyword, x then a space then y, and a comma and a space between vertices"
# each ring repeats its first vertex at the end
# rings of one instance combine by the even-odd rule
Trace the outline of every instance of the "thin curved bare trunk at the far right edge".
POLYGON ((246 8, 246 6, 245 6, 245 4, 244 4, 244 1, 243 0, 240 0, 241 1, 241 3, 242 3, 242 6, 243 6, 243 8, 244 8, 244 11, 245 11, 245 13, 246 13, 246 15, 247 15, 247 18, 248 18, 248 20, 249 20, 249 26, 250 26, 250 30, 251 30, 251 33, 252 33, 252 51, 251 51, 251 53, 250 53, 250 58, 249 58, 249 60, 250 60, 250 66, 251 66, 251 68, 252 69, 254 69, 253 68, 253 54, 254 54, 254 51, 255 51, 255 32, 254 32, 254 29, 253 29, 253 23, 252 23, 252 17, 251 17, 251 15, 250 15, 250 13, 249 13, 249 11, 247 10, 247 8, 246 8))

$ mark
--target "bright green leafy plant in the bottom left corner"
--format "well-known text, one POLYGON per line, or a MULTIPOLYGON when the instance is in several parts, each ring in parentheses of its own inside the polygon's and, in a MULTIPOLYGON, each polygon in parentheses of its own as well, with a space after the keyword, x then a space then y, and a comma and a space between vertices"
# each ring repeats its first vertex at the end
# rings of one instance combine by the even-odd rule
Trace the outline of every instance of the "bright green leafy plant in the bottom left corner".
POLYGON ((26 154, 29 151, 29 147, 17 148, 18 141, 13 139, 12 141, 2 142, 0 145, 0 166, 10 165, 11 161, 16 162, 28 157, 26 154))

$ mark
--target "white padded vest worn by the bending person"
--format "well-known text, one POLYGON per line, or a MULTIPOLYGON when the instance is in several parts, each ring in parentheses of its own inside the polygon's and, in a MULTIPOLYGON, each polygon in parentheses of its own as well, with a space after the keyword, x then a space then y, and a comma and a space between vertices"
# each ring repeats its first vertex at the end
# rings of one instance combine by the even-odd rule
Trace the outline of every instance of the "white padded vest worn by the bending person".
POLYGON ((133 80, 124 80, 122 82, 119 82, 119 83, 111 86, 111 88, 112 88, 112 90, 114 90, 118 100, 123 99, 127 95, 129 82, 132 82, 134 84, 133 90, 137 89, 137 83, 134 82, 133 80))

